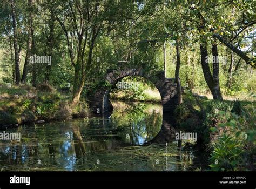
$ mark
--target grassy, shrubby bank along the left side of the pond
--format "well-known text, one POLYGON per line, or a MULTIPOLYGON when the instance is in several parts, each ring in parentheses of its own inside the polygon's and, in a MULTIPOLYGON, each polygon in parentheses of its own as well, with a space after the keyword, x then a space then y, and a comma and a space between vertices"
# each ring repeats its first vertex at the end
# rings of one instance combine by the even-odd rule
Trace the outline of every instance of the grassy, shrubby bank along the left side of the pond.
POLYGON ((0 94, 0 126, 84 118, 89 112, 86 103, 71 106, 70 94, 45 84, 1 86, 0 94))

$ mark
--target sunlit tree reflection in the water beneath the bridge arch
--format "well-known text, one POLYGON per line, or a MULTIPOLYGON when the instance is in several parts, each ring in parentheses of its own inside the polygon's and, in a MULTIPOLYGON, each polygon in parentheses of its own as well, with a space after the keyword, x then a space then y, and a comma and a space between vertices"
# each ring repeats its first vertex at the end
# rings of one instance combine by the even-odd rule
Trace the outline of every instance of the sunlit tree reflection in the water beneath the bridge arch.
POLYGON ((122 102, 112 103, 114 111, 111 117, 118 126, 123 127, 123 136, 131 137, 132 145, 144 144, 154 138, 161 128, 161 105, 122 102), (115 107, 124 107, 118 109, 115 107))

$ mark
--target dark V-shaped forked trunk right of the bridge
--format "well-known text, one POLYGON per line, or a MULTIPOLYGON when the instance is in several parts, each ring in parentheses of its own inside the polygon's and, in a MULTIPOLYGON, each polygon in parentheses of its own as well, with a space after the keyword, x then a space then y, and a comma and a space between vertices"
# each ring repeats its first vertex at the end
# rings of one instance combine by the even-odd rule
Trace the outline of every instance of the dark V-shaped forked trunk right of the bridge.
POLYGON ((219 62, 218 62, 218 48, 217 44, 212 45, 212 55, 213 60, 215 57, 215 61, 213 63, 213 76, 207 62, 208 58, 208 51, 207 51, 207 43, 201 42, 200 43, 200 54, 201 54, 201 65, 204 73, 205 81, 212 92, 212 97, 214 100, 223 100, 220 87, 219 87, 219 62))

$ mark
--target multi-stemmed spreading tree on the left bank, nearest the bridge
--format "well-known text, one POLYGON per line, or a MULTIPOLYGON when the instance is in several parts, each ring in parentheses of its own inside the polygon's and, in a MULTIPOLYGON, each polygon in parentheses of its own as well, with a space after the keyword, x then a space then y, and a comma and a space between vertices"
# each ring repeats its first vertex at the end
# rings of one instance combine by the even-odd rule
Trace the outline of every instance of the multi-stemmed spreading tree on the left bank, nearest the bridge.
MULTIPOLYGON (((59 3, 63 4, 62 2, 59 3)), ((68 2, 63 7, 59 6, 59 14, 56 14, 56 19, 65 33, 71 64, 75 69, 72 104, 79 102, 86 73, 91 68, 93 49, 100 32, 106 29, 106 25, 109 23, 108 19, 114 18, 114 15, 123 14, 120 8, 126 6, 132 8, 134 4, 111 1, 73 1, 68 2), (63 10, 66 11, 64 15, 60 14, 63 10), (73 43, 75 43, 76 48, 73 48, 73 43)), ((129 9, 124 10, 127 12, 125 17, 132 14, 132 12, 129 13, 129 9)), ((115 22, 121 22, 122 19, 122 17, 121 19, 116 17, 111 22, 114 26, 115 22)))

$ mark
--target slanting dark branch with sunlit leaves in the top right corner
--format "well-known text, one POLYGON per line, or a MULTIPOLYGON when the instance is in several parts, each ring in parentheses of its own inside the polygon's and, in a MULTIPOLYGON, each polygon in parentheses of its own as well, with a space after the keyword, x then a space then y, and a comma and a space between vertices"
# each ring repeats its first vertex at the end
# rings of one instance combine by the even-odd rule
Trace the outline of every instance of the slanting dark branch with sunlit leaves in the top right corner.
MULTIPOLYGON (((251 66, 253 66, 253 68, 255 68, 256 66, 256 59, 254 58, 250 58, 248 55, 246 55, 245 52, 243 52, 242 50, 240 50, 237 46, 234 46, 232 44, 232 41, 234 38, 237 38, 242 31, 244 31, 246 28, 253 26, 253 24, 256 23, 255 18, 252 16, 253 15, 253 11, 251 11, 251 9, 255 7, 255 5, 251 2, 251 3, 242 3, 241 2, 224 2, 224 3, 217 3, 217 2, 212 2, 212 3, 208 3, 208 4, 201 4, 201 2, 198 3, 197 6, 195 6, 193 4, 193 6, 191 6, 191 10, 196 12, 196 15, 199 18, 199 27, 201 29, 205 29, 205 32, 210 33, 210 35, 212 35, 212 37, 214 37, 215 39, 218 39, 221 43, 223 43, 224 45, 227 46, 227 48, 229 48, 230 50, 232 50, 233 52, 235 52, 239 57, 241 57, 242 59, 245 60, 246 64, 249 64, 251 66), (203 5, 203 6, 202 6, 203 5), (226 5, 226 6, 224 6, 226 5), (238 23, 239 23, 239 27, 238 30, 235 31, 235 33, 237 33, 235 36, 231 35, 231 40, 229 41, 225 36, 220 35, 220 30, 222 28, 224 28, 223 24, 230 26, 230 28, 234 28, 232 27, 232 23, 223 23, 222 20, 225 19, 214 19, 215 17, 220 17, 220 15, 223 13, 223 11, 226 10, 227 6, 238 6, 240 7, 240 11, 244 11, 242 12, 242 16, 241 18, 238 18, 238 23), (218 11, 216 11, 216 9, 218 8, 218 11), (246 8, 246 9, 244 9, 246 8), (214 10, 214 12, 213 12, 214 10), (246 11, 245 11, 246 10, 246 11), (201 13, 201 11, 204 11, 204 16, 201 13), (241 21, 240 21, 241 19, 241 21), (207 28, 205 26, 208 26, 207 28)), ((233 11, 233 9, 232 9, 233 11)), ((226 29, 226 28, 225 28, 226 29)), ((234 29, 233 29, 234 31, 234 29)), ((232 33, 232 32, 228 32, 228 33, 232 33)))

